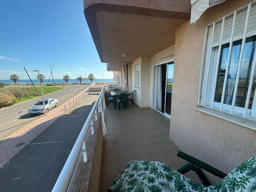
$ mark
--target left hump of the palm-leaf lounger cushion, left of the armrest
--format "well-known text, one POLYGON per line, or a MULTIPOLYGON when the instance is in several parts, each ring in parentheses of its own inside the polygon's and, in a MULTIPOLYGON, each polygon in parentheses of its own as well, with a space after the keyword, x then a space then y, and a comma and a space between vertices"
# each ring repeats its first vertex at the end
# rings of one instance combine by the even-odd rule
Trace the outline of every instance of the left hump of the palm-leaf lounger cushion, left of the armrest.
POLYGON ((206 192, 207 188, 160 162, 131 161, 108 192, 206 192))

